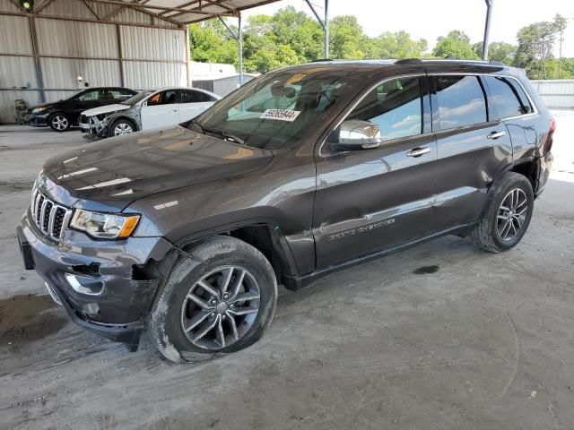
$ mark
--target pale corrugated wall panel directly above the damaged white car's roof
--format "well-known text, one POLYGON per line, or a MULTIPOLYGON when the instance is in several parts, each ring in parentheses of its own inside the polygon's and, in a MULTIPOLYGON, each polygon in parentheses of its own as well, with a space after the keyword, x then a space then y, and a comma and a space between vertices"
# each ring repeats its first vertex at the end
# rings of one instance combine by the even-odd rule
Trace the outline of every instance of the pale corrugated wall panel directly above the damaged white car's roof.
POLYGON ((134 90, 153 90, 173 85, 185 86, 187 82, 186 64, 126 61, 124 73, 126 87, 134 90))

